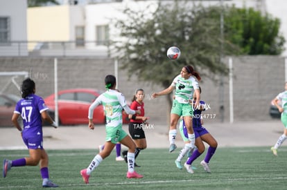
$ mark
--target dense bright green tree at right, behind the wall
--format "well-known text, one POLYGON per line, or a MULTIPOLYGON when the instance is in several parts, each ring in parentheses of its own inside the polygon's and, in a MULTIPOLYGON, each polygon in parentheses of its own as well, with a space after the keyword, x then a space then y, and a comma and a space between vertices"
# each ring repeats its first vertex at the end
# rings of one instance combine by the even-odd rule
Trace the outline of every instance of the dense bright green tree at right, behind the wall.
POLYGON ((225 8, 227 40, 240 46, 243 54, 280 55, 285 39, 279 28, 279 19, 253 8, 225 8))

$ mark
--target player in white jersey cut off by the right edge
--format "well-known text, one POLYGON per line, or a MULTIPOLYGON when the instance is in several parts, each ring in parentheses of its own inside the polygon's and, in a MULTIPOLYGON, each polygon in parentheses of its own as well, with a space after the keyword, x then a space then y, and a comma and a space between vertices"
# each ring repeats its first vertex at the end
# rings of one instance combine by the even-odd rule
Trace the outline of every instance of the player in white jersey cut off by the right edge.
POLYGON ((287 138, 287 82, 285 82, 285 91, 279 93, 279 95, 272 100, 272 103, 277 106, 279 112, 281 113, 281 122, 284 125, 284 133, 279 137, 276 144, 271 147, 273 154, 277 155, 277 149, 287 138), (281 106, 279 102, 281 102, 281 106))

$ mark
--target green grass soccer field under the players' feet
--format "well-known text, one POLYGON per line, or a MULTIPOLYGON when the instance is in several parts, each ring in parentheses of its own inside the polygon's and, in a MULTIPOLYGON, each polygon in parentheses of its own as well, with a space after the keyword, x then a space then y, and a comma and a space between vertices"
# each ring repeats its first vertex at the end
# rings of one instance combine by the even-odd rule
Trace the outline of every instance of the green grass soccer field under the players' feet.
MULTIPOLYGON (((80 169, 89 165, 97 150, 47 150, 50 178, 58 189, 286 189, 287 150, 279 149, 275 157, 270 147, 220 148, 211 160, 212 173, 205 173, 195 160, 195 173, 177 169, 174 164, 179 148, 141 151, 136 168, 142 179, 125 178, 127 164, 115 161, 115 151, 92 173, 89 184, 80 176, 80 169)), ((23 158, 27 150, 0 151, 3 158, 23 158)), ((186 159, 184 158, 184 161, 186 159)), ((0 178, 0 189, 40 189, 42 179, 38 167, 14 167, 6 178, 0 178)))

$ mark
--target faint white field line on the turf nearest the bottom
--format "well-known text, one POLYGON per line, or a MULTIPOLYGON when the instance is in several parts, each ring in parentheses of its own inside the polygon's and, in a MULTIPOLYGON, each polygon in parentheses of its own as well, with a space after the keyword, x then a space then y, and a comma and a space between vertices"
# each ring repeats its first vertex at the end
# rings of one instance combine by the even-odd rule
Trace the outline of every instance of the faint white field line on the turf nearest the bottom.
MULTIPOLYGON (((192 176, 192 175, 191 175, 192 176)), ((138 179, 137 179, 138 180, 138 179)), ((287 180, 287 177, 277 177, 277 178, 221 178, 220 180, 226 180, 226 181, 249 181, 250 180, 287 180)), ((59 187, 79 187, 79 186, 107 186, 107 185, 128 185, 128 184, 166 184, 166 183, 182 183, 182 182, 217 182, 218 179, 190 179, 190 180, 157 180, 157 181, 138 181, 138 182, 107 182, 107 183, 89 183, 89 184, 84 184, 84 183, 77 183, 77 184, 59 184, 59 187)), ((20 186, 6 186, 6 187, 0 187, 0 189, 19 189, 19 188, 33 188, 35 186, 32 185, 20 185, 20 186)))

